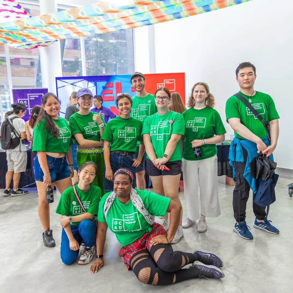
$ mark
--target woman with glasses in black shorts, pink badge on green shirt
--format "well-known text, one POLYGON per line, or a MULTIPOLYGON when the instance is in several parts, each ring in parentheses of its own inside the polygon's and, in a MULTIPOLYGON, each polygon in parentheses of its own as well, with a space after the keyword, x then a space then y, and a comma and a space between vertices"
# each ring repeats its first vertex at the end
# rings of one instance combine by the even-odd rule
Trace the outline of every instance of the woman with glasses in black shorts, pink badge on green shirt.
MULTIPOLYGON (((147 174, 157 194, 170 197, 181 205, 178 188, 181 176, 180 139, 184 134, 184 119, 180 113, 169 110, 171 93, 161 87, 155 92, 158 113, 144 121, 142 134, 147 151, 147 174)), ((164 217, 162 226, 168 230, 169 219, 164 217)), ((183 237, 182 210, 179 226, 171 243, 183 237)))

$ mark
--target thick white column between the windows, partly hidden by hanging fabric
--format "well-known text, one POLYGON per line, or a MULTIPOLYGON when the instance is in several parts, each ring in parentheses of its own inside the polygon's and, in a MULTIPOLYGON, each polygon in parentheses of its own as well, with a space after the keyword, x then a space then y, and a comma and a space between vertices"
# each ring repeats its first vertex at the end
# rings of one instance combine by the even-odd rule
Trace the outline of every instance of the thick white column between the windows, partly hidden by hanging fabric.
MULTIPOLYGON (((40 0, 41 15, 57 12, 56 0, 40 0)), ((60 43, 40 48, 42 87, 56 94, 55 77, 62 76, 60 43)))

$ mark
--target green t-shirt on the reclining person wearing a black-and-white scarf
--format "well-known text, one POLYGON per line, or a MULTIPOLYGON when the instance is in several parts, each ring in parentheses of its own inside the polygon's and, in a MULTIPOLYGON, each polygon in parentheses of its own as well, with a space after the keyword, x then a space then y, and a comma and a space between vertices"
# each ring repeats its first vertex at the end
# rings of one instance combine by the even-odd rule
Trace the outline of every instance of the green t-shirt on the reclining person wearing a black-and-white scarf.
MULTIPOLYGON (((151 215, 163 217, 166 214, 170 198, 146 190, 135 190, 151 215)), ((142 237, 150 225, 134 207, 131 200, 127 204, 123 204, 117 197, 108 211, 106 221, 104 205, 110 193, 106 193, 101 199, 98 221, 107 222, 109 229, 116 234, 119 243, 125 246, 142 237)))

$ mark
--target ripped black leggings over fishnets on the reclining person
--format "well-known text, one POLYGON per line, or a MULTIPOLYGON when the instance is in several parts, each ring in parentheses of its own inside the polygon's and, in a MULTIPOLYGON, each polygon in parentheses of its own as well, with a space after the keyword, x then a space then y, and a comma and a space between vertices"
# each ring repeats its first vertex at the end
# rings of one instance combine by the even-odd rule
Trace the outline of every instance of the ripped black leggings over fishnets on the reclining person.
POLYGON ((171 245, 158 244, 150 251, 141 250, 130 259, 130 267, 140 282, 150 285, 170 285, 198 278, 198 268, 181 269, 200 260, 197 253, 173 251, 171 245))

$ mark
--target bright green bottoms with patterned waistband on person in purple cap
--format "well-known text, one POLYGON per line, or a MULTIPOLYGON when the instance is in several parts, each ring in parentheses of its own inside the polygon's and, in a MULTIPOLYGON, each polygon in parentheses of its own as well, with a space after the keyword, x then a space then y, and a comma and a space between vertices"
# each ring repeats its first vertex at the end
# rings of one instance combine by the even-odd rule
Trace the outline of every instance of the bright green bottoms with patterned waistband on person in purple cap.
POLYGON ((97 176, 93 180, 93 185, 100 187, 102 191, 102 196, 104 195, 104 156, 103 148, 81 148, 77 147, 76 161, 78 168, 88 161, 96 163, 98 166, 97 176))

